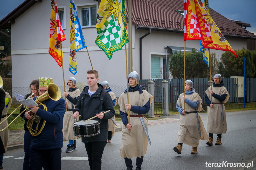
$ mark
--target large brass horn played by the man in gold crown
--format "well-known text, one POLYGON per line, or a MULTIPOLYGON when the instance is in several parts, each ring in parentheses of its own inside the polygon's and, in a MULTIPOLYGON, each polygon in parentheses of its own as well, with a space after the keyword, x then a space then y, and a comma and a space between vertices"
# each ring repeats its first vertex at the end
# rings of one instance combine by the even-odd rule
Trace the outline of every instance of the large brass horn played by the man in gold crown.
MULTIPOLYGON (((46 93, 44 93, 44 94, 42 94, 42 95, 40 95, 36 98, 35 102, 38 104, 37 107, 42 105, 44 107, 44 110, 47 111, 47 107, 42 102, 49 99, 49 98, 54 100, 54 101, 58 101, 61 98, 60 88, 57 85, 53 84, 53 83, 51 83, 47 86, 47 92, 46 93)), ((31 116, 32 116, 32 119, 28 120, 27 128, 28 128, 28 131, 31 133, 32 136, 37 136, 44 129, 44 125, 45 125, 46 121, 44 120, 44 122, 42 124, 42 127, 39 129, 39 123, 40 123, 41 118, 33 112, 31 112, 31 116), (33 126, 34 122, 37 123, 36 129, 32 129, 32 126, 33 126)))

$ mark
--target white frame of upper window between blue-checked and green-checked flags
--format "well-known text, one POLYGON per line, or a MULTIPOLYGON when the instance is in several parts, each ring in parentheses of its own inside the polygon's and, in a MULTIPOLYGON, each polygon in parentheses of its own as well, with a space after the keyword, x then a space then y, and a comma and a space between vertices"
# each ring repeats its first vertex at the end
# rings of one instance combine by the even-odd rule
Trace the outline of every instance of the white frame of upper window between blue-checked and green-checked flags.
MULTIPOLYGON (((76 9, 77 9, 77 15, 79 17, 79 21, 81 24, 82 28, 93 28, 96 27, 96 25, 91 25, 91 7, 96 6, 96 15, 98 12, 98 2, 92 2, 92 3, 86 3, 86 4, 77 4, 76 9), (82 9, 83 8, 89 8, 89 25, 82 26, 82 9)), ((96 20, 96 18, 95 18, 96 20)))

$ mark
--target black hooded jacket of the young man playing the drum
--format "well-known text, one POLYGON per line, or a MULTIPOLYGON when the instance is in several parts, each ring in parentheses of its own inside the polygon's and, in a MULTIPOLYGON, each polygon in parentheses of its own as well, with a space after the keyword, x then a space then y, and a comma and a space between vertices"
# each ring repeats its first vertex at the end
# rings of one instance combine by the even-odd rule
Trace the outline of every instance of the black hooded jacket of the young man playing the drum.
POLYGON ((113 107, 112 99, 108 93, 105 93, 103 100, 100 100, 100 94, 104 91, 104 88, 101 84, 98 83, 98 89, 96 92, 91 95, 88 93, 89 86, 86 86, 82 93, 80 94, 77 105, 73 111, 79 112, 79 115, 82 115, 83 120, 90 119, 96 114, 100 112, 105 112, 110 110, 108 113, 104 114, 104 117, 102 119, 99 119, 98 117, 94 118, 94 120, 97 120, 100 122, 100 134, 96 136, 90 136, 90 137, 82 137, 83 143, 88 142, 105 142, 108 138, 108 119, 111 119, 115 116, 115 109, 113 107), (82 103, 82 97, 83 97, 83 106, 81 108, 82 103), (100 108, 102 102, 102 108, 100 108), (82 113, 81 113, 82 111, 82 113))

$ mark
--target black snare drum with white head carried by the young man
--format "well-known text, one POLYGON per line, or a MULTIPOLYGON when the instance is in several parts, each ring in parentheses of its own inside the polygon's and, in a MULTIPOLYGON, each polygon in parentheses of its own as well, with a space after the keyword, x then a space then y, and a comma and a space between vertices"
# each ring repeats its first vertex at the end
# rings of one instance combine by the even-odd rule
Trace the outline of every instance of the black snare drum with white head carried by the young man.
POLYGON ((96 136, 100 134, 100 123, 97 120, 81 120, 74 123, 74 135, 79 137, 96 136))

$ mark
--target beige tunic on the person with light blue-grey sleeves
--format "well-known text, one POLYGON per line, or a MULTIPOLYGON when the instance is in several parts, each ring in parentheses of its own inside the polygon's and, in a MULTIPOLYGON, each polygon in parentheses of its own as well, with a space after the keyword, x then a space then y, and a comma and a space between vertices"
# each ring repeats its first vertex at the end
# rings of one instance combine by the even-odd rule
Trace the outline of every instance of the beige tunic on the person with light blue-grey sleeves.
MULTIPOLYGON (((184 94, 180 94, 178 101, 177 101, 177 104, 179 106, 181 106, 182 108, 184 108, 184 101, 182 98, 183 96, 184 96, 184 94)), ((202 99, 200 98, 200 96, 197 93, 193 93, 191 95, 186 95, 186 97, 193 102, 199 101, 197 110, 198 111, 203 110, 202 104, 201 104, 202 99)), ((187 103, 185 103, 185 110, 187 112, 195 111, 195 109, 190 107, 187 103)), ((199 145, 200 139, 201 140, 209 139, 199 113, 198 113, 198 120, 199 120, 199 125, 200 125, 201 137, 200 137, 199 130, 198 130, 196 114, 190 113, 190 114, 180 115, 178 143, 185 143, 192 147, 196 147, 199 145)))

